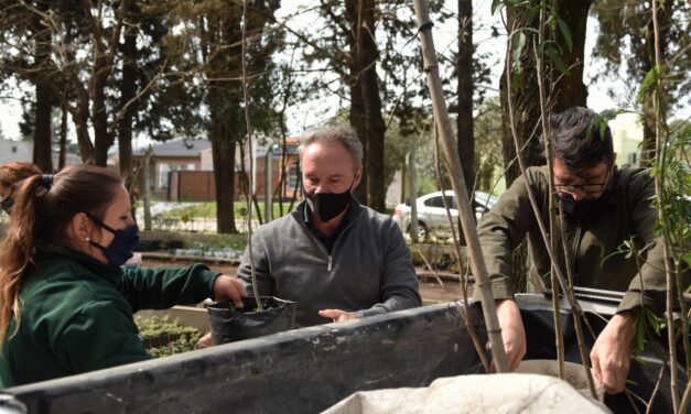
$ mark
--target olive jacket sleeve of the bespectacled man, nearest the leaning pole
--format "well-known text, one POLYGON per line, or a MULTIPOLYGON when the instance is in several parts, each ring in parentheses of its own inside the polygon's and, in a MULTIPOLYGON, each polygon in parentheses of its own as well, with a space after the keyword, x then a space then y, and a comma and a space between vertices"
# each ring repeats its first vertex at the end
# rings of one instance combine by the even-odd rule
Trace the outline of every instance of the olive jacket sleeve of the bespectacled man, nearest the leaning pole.
MULTIPOLYGON (((529 170, 530 171, 530 170, 529 170)), ((532 175, 531 185, 536 188, 537 174, 532 175)), ((536 194, 538 203, 539 195, 536 194)), ((535 222, 535 213, 526 188, 526 177, 519 176, 499 197, 477 227, 481 249, 492 282, 496 299, 512 299, 515 281, 511 268, 514 250, 525 239, 530 222, 535 222)), ((479 302, 479 290, 473 290, 474 299, 479 302)))

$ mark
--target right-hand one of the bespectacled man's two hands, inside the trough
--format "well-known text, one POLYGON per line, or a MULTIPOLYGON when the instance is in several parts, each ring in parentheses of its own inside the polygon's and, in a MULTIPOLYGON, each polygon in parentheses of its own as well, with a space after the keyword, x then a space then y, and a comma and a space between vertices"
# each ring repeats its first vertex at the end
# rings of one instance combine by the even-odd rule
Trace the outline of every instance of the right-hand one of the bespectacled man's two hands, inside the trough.
POLYGON ((628 312, 616 314, 602 330, 593 350, 593 374, 609 394, 624 391, 631 362, 631 341, 636 335, 634 316, 628 312))

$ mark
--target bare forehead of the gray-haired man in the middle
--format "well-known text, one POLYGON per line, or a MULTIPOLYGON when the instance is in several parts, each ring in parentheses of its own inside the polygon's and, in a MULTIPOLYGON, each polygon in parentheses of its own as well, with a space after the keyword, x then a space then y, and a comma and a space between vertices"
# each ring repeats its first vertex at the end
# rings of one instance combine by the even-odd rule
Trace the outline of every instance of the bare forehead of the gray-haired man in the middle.
POLYGON ((312 143, 302 151, 302 171, 305 175, 350 175, 353 156, 341 144, 312 143))

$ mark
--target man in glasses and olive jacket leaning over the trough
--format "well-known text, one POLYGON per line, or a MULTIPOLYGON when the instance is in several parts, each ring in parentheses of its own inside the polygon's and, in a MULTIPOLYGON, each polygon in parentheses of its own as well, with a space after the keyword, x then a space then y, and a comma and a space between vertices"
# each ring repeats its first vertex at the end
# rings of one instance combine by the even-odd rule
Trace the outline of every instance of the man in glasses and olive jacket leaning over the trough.
MULTIPOLYGON (((624 390, 629 369, 635 313, 641 306, 655 307, 654 298, 663 296, 665 266, 661 243, 648 251, 640 270, 635 257, 617 254, 625 241, 633 240, 638 251, 655 243, 655 186, 644 171, 617 170, 611 131, 602 130, 601 137, 596 118, 594 111, 576 107, 550 119, 555 196, 564 214, 563 228, 557 219, 554 235, 560 248, 554 253, 564 275, 565 263, 571 264, 575 285, 626 292, 591 352, 595 377, 609 393, 618 393, 624 390)), ((528 197, 530 187, 541 218, 549 226, 552 195, 548 173, 547 166, 528 168, 478 226, 511 369, 526 353, 526 333, 514 302, 511 275, 511 252, 526 237, 529 290, 550 290, 551 261, 528 197)))

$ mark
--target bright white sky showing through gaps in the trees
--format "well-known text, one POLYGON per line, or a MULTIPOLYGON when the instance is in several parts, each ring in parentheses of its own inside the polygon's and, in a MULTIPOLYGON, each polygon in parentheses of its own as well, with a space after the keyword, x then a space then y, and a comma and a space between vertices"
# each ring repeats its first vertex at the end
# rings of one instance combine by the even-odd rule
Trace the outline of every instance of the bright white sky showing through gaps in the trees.
MULTIPOLYGON (((279 10, 278 19, 279 21, 285 19, 285 17, 291 15, 298 10, 301 4, 312 4, 310 1, 301 0, 301 1, 284 1, 285 6, 279 10)), ((478 53, 489 53, 493 57, 492 61, 496 62, 495 65, 492 66, 492 85, 488 85, 487 96, 498 95, 499 89, 499 77, 503 69, 504 64, 504 54, 506 51, 506 35, 504 31, 504 26, 500 22, 500 17, 497 14, 492 15, 490 13, 490 0, 481 0, 474 1, 474 24, 476 31, 474 32, 474 42, 477 43, 478 53), (490 35, 490 26, 494 25, 498 29, 500 35, 497 37, 493 37, 490 35)), ((446 1, 446 7, 450 11, 455 13, 457 1, 446 1)), ((299 17, 293 17, 290 19, 289 24, 293 29, 298 30, 306 30, 311 22, 314 19, 314 14, 303 13, 299 17)), ((602 111, 604 109, 614 108, 618 105, 624 105, 627 101, 628 96, 630 95, 630 90, 627 91, 626 83, 623 80, 613 81, 592 81, 593 75, 598 69, 597 64, 592 62, 591 54, 595 44, 597 31, 597 21, 595 19, 589 19, 587 22, 587 34, 585 40, 585 74, 584 81, 589 86, 589 98, 587 106, 596 111, 602 111), (618 99, 618 102, 613 100, 607 95, 607 87, 615 86, 617 90, 623 91, 622 96, 618 99)), ((439 53, 447 52, 449 48, 455 48, 456 43, 456 33, 457 33, 457 23, 454 20, 450 20, 444 24, 436 24, 433 29, 434 43, 439 53)), ((409 47, 419 47, 418 42, 411 42, 409 47)), ((2 135, 9 139, 19 139, 19 121, 21 119, 22 109, 17 99, 18 95, 20 95, 19 87, 14 86, 13 90, 9 92, 4 92, 4 95, 0 96, 0 126, 2 135), (8 96, 8 94, 10 96, 8 96)), ((291 108, 288 113, 288 127, 291 133, 300 134, 305 129, 313 128, 325 121, 326 119, 333 117, 338 109, 338 101, 335 98, 326 98, 325 100, 313 100, 311 102, 306 102, 301 106, 296 106, 291 108)), ((691 111, 690 111, 691 112, 691 111)), ((691 113, 689 113, 691 116, 691 113)), ((73 133, 74 135, 74 133, 73 133)), ((140 137, 136 139, 134 145, 144 145, 148 144, 149 140, 144 137, 140 137)))

